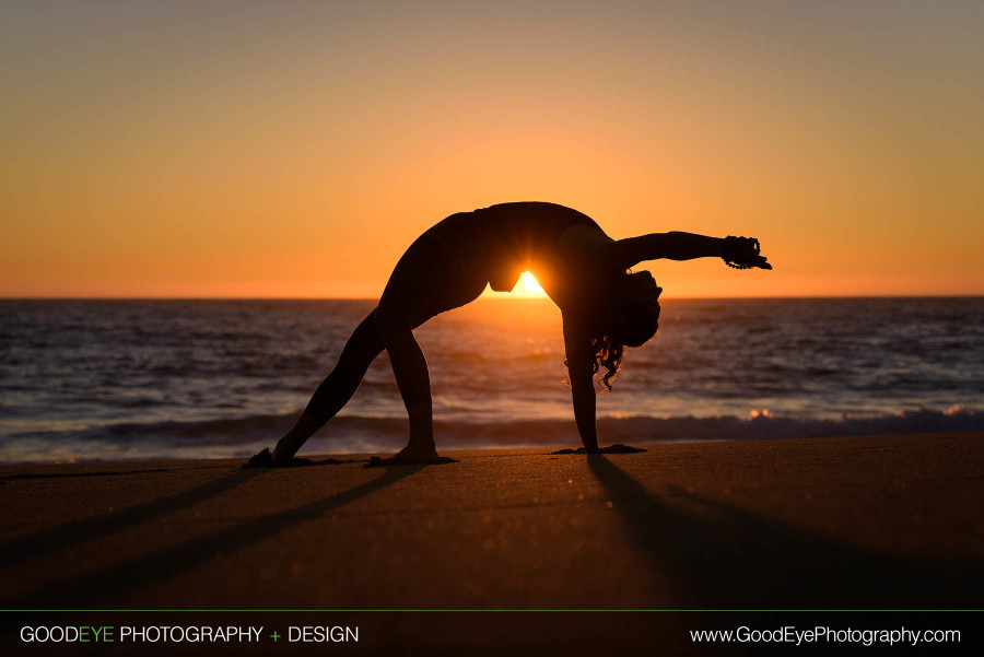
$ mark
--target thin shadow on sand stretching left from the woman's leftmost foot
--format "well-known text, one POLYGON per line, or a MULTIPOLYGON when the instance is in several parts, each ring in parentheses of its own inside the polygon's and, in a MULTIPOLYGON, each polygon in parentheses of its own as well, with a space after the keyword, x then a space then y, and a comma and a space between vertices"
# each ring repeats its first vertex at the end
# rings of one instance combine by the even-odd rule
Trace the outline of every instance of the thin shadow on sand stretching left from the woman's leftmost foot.
POLYGON ((173 514, 188 506, 194 506, 199 502, 204 502, 209 497, 225 493, 261 472, 262 470, 236 470, 215 481, 209 481, 194 489, 167 495, 160 500, 151 500, 150 502, 108 514, 59 525, 51 529, 14 539, 0 545, 0 563, 4 566, 11 566, 26 559, 35 559, 73 543, 90 541, 173 514))

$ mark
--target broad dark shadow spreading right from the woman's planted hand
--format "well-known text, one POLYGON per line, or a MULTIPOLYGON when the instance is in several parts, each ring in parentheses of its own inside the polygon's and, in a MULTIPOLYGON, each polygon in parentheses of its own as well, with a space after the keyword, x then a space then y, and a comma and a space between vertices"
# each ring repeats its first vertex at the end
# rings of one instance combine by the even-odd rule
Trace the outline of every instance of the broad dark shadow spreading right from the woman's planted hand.
POLYGON ((980 600, 979 564, 866 552, 680 489, 670 489, 670 503, 604 456, 588 464, 636 542, 670 578, 679 607, 969 609, 980 600))

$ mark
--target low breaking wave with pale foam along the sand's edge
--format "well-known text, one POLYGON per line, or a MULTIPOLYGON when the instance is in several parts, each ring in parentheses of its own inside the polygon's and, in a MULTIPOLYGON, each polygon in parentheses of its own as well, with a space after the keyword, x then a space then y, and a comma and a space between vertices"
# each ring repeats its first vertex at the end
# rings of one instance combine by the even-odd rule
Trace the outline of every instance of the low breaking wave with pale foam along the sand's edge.
MULTIPOLYGON (((256 446, 272 444, 290 430, 297 414, 249 415, 199 422, 116 423, 90 426, 81 431, 14 434, 5 436, 0 443, 0 460, 50 460, 45 458, 45 446, 52 450, 50 454, 71 454, 74 449, 86 458, 241 455, 256 446), (31 445, 30 449, 26 449, 27 445, 31 445)), ((734 415, 688 415, 604 417, 599 420, 602 442, 635 443, 968 431, 984 431, 984 413, 959 406, 946 411, 922 408, 892 414, 842 415, 835 419, 776 417, 768 411, 753 411, 752 417, 745 419, 734 415)), ((573 419, 501 422, 443 422, 438 419, 435 422, 435 434, 438 447, 445 449, 552 446, 578 442, 573 419)), ((406 435, 407 421, 402 417, 342 415, 316 434, 312 448, 339 453, 378 451, 399 447, 406 441, 406 435)))

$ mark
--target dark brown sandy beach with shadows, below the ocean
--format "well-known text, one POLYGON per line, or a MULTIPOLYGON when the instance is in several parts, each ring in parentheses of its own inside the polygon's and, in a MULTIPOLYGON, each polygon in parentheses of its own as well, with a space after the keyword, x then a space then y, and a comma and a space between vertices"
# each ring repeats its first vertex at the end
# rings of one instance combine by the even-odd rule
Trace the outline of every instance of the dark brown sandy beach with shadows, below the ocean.
POLYGON ((982 434, 646 448, 4 466, 2 607, 977 606, 982 434))

